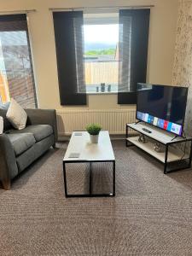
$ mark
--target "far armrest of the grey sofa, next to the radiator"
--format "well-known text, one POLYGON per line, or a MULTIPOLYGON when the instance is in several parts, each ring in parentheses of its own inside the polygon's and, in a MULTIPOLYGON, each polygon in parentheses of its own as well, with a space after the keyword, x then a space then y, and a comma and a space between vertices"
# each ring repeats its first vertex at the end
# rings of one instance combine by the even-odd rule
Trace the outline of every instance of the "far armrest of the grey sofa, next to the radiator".
POLYGON ((55 109, 26 108, 27 125, 51 125, 55 142, 58 139, 55 109))

